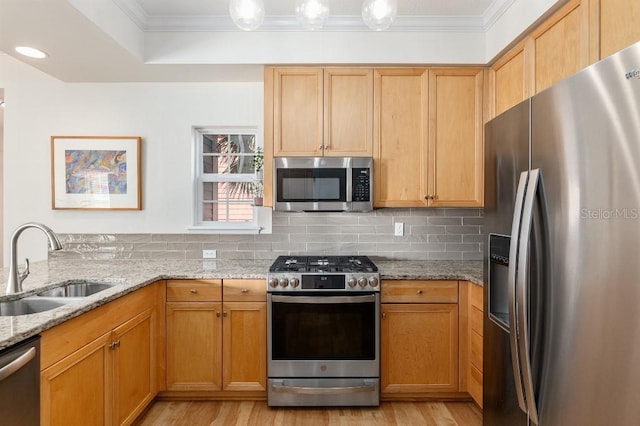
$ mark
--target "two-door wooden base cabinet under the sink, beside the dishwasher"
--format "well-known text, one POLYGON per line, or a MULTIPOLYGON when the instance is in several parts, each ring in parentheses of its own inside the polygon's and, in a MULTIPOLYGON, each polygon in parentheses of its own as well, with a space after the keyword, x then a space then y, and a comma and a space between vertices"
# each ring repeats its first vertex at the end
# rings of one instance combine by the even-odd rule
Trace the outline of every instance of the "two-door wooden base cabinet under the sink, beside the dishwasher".
POLYGON ((42 425, 131 424, 153 400, 161 359, 158 286, 42 333, 42 425))

